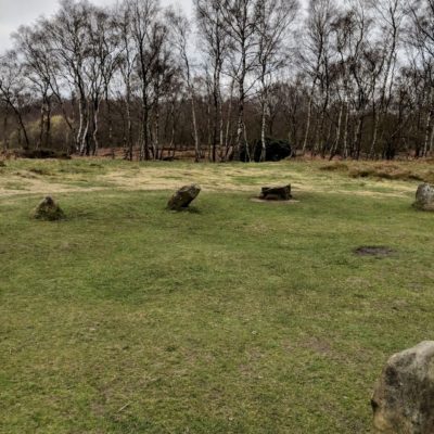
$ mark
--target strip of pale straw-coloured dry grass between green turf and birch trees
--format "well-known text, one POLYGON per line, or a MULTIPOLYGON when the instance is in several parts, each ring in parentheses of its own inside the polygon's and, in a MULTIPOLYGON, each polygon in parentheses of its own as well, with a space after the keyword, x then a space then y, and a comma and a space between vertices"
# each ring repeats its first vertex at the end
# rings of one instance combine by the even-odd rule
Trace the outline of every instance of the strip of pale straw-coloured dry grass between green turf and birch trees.
POLYGON ((330 164, 318 161, 275 164, 130 163, 102 158, 13 161, 1 169, 0 196, 99 190, 176 190, 192 182, 210 192, 255 194, 263 186, 291 183, 299 192, 391 196, 414 191, 413 182, 421 180, 434 181, 432 165, 349 161, 330 164))

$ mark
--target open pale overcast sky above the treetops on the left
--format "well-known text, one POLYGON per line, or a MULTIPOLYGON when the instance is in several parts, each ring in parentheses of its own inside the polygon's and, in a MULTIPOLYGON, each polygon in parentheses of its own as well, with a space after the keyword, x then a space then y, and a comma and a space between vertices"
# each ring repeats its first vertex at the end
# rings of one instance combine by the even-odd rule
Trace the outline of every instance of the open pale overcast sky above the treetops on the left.
MULTIPOLYGON (((189 15, 192 0, 161 0, 163 5, 179 4, 189 15)), ((114 0, 91 0, 93 4, 113 4, 114 0)), ((10 36, 22 24, 31 24, 40 15, 50 16, 58 9, 58 0, 0 0, 0 51, 11 48, 10 36)))

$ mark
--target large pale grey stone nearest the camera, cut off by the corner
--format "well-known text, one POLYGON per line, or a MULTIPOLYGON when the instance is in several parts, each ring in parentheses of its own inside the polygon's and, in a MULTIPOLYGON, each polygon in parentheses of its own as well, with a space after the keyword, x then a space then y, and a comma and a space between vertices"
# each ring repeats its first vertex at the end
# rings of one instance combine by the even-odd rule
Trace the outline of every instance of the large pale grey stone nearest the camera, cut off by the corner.
POLYGON ((392 356, 371 404, 379 434, 433 434, 434 341, 392 356))

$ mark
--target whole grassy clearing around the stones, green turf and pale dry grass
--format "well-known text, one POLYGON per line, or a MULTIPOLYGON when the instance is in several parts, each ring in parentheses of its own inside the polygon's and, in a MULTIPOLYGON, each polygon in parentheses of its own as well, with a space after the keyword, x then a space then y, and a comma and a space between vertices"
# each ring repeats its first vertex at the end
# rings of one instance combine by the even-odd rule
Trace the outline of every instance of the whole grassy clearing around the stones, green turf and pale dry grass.
POLYGON ((385 360, 433 339, 432 165, 356 166, 7 162, 0 432, 369 433, 385 360), (298 202, 251 201, 284 181, 298 202), (29 218, 44 194, 66 220, 29 218))

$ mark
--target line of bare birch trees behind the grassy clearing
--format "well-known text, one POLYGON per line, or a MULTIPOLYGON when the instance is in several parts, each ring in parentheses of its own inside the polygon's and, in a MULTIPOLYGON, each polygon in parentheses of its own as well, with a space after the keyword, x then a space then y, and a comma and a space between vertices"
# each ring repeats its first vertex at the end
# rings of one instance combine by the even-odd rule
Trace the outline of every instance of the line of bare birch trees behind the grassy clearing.
POLYGON ((244 159, 434 151, 434 0, 62 0, 0 53, 3 150, 244 159))

